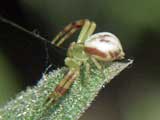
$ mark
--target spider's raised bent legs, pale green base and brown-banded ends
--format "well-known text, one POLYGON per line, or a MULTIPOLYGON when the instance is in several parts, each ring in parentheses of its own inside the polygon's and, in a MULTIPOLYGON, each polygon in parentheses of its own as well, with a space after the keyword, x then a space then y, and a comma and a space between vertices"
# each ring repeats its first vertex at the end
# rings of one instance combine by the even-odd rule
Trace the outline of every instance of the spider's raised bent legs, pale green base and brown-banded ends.
POLYGON ((76 22, 72 22, 67 25, 63 29, 63 31, 59 32, 59 34, 51 41, 51 43, 55 44, 58 47, 61 46, 65 42, 65 40, 67 40, 80 28, 82 28, 82 30, 78 37, 78 43, 84 42, 86 38, 94 32, 96 24, 89 21, 88 19, 82 19, 76 22))

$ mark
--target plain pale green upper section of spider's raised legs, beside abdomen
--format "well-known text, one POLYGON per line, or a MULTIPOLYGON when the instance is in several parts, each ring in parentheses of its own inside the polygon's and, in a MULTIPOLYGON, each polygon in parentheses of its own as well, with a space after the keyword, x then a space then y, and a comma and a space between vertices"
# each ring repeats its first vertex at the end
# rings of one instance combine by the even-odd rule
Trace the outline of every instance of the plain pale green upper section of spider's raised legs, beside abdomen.
POLYGON ((89 26, 83 26, 79 36, 78 36, 78 43, 84 43, 84 41, 93 34, 96 29, 96 23, 91 22, 89 26))

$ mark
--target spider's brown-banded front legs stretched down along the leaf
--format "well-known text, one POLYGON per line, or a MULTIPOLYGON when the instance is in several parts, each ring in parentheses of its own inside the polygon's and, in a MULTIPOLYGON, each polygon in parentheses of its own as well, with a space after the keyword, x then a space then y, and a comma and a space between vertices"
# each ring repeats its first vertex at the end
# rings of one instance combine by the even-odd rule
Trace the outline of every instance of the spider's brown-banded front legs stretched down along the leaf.
POLYGON ((76 61, 73 58, 67 57, 65 59, 65 64, 69 67, 68 73, 64 76, 64 78, 60 81, 60 83, 56 86, 53 93, 51 93, 47 100, 46 104, 48 106, 53 105, 57 102, 65 93, 68 91, 72 83, 76 80, 76 78, 80 74, 80 65, 81 62, 76 61))

